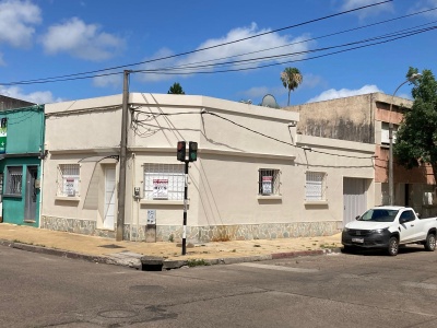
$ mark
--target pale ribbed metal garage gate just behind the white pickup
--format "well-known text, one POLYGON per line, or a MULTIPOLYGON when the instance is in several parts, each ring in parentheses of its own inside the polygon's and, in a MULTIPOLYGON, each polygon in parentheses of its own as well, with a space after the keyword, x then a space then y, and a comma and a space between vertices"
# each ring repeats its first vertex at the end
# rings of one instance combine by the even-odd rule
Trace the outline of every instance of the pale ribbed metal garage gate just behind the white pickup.
POLYGON ((367 210, 366 189, 366 179, 343 178, 343 225, 367 210))

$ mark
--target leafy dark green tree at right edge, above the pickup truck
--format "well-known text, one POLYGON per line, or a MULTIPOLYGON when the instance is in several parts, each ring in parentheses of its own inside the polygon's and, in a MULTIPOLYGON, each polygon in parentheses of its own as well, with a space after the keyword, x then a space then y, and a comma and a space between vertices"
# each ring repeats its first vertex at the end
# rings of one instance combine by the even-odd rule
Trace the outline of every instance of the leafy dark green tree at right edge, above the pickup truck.
MULTIPOLYGON (((417 73, 410 68, 406 78, 417 73)), ((437 81, 430 70, 424 70, 412 89, 413 106, 405 109, 398 129, 393 154, 406 168, 429 164, 437 181, 437 81)))

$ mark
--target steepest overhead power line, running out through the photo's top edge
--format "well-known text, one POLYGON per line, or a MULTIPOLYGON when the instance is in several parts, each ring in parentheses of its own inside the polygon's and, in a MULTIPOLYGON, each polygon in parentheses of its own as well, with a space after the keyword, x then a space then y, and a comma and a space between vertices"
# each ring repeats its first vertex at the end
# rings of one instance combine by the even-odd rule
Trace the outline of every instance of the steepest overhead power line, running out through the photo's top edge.
POLYGON ((123 68, 128 68, 128 67, 132 67, 132 66, 151 63, 151 62, 155 62, 155 61, 172 59, 172 58, 181 57, 181 56, 187 56, 187 55, 191 55, 191 54, 194 54, 194 52, 205 51, 205 50, 223 47, 223 46, 226 46, 226 45, 240 43, 240 42, 248 40, 248 39, 251 39, 251 38, 260 37, 260 36, 263 36, 263 35, 277 33, 277 32, 281 32, 281 31, 285 31, 285 30, 290 30, 290 28, 294 28, 294 27, 298 27, 298 26, 303 26, 303 25, 307 25, 307 24, 311 24, 311 23, 316 23, 316 22, 320 22, 320 21, 324 21, 324 20, 332 19, 332 17, 335 17, 335 16, 339 16, 339 15, 344 15, 344 14, 347 14, 347 13, 351 13, 351 12, 354 12, 354 11, 368 9, 368 8, 371 8, 371 7, 375 7, 375 5, 380 5, 380 4, 385 4, 385 3, 388 3, 388 2, 392 2, 392 1, 393 0, 386 0, 386 1, 377 2, 377 3, 373 3, 373 4, 367 4, 367 5, 358 7, 358 8, 352 9, 352 10, 342 11, 340 13, 326 15, 326 16, 322 16, 322 17, 319 17, 319 19, 314 19, 314 20, 309 20, 309 21, 306 21, 306 22, 297 23, 297 24, 290 25, 290 26, 286 26, 286 27, 281 27, 281 28, 269 31, 269 32, 251 35, 251 36, 248 36, 248 37, 245 37, 245 38, 231 40, 231 42, 227 42, 227 43, 222 43, 222 44, 218 44, 218 45, 204 47, 204 48, 190 50, 190 51, 185 51, 185 52, 180 52, 180 54, 176 54, 176 55, 172 55, 172 56, 166 56, 166 57, 162 57, 162 58, 140 61, 140 62, 130 63, 130 65, 122 65, 122 66, 117 66, 117 67, 111 67, 111 68, 106 68, 106 69, 101 69, 101 70, 93 70, 93 71, 87 71, 87 72, 74 73, 74 74, 67 74, 67 75, 59 75, 59 77, 51 77, 51 78, 44 78, 44 79, 35 79, 35 80, 26 80, 26 81, 15 81, 15 82, 9 82, 9 83, 8 82, 7 83, 0 82, 0 84, 2 84, 2 85, 40 84, 40 83, 48 83, 48 82, 72 81, 72 80, 81 80, 81 79, 91 79, 91 78, 95 78, 95 77, 120 74, 121 72, 98 74, 98 75, 91 75, 90 77, 90 74, 94 74, 94 73, 101 73, 101 72, 105 72, 105 71, 123 69, 123 68), (80 75, 87 75, 87 77, 82 77, 81 78, 80 75), (75 79, 70 79, 70 78, 75 78, 75 79))

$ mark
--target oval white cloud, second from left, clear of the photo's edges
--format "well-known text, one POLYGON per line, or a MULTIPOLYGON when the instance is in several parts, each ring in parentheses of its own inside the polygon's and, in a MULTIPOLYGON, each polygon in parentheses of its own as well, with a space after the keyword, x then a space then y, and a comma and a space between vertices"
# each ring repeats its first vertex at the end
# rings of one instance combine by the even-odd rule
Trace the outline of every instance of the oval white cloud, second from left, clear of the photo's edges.
POLYGON ((68 52, 93 61, 111 58, 125 47, 122 38, 101 32, 101 26, 85 24, 78 17, 50 26, 42 37, 42 44, 47 54, 68 52))

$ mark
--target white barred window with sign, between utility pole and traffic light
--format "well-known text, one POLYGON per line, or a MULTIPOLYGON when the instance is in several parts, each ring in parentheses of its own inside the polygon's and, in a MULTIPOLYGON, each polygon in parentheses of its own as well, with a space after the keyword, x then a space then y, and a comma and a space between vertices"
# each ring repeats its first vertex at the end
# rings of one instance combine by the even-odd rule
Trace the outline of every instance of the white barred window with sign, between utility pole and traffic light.
POLYGON ((144 164, 144 199, 184 200, 184 164, 144 164))

